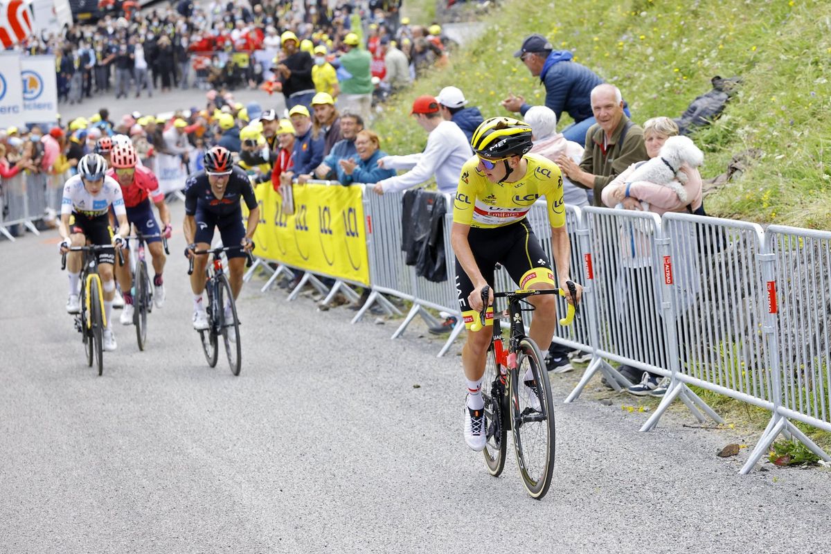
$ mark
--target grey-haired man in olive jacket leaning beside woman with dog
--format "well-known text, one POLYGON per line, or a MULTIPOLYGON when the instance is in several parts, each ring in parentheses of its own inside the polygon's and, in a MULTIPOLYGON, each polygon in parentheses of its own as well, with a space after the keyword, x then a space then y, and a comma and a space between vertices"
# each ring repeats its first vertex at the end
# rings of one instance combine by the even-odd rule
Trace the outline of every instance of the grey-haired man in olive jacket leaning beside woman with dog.
POLYGON ((631 164, 649 156, 643 144, 643 129, 623 113, 623 99, 617 86, 594 87, 592 112, 597 123, 586 132, 586 150, 580 164, 564 155, 558 157, 557 164, 573 184, 592 190, 593 204, 602 206, 603 187, 631 164))

